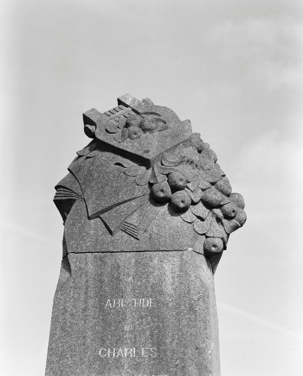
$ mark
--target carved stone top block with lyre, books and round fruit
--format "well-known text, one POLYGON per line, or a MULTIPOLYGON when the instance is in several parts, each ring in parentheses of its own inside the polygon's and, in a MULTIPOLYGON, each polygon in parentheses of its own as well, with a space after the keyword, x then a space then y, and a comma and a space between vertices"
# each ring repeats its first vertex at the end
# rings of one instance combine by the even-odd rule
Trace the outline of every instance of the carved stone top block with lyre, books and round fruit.
POLYGON ((87 244, 93 252, 192 248, 215 271, 229 235, 245 223, 244 201, 190 120, 130 94, 83 119, 93 140, 54 198, 65 252, 87 252, 87 244))

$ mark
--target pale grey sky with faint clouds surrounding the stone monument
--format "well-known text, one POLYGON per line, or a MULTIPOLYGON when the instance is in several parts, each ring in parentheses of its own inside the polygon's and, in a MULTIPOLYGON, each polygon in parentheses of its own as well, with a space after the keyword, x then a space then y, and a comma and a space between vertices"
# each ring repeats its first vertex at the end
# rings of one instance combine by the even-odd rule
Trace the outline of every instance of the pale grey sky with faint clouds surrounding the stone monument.
POLYGON ((54 186, 82 113, 126 93, 190 118, 245 198, 215 275, 221 375, 303 375, 302 20, 297 0, 1 1, 1 375, 44 373, 54 186))

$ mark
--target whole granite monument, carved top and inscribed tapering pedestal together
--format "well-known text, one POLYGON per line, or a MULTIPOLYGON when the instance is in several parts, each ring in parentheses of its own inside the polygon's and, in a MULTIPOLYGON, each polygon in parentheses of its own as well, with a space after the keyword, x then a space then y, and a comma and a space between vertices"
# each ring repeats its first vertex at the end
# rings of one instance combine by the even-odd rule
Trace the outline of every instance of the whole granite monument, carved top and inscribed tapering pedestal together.
POLYGON ((214 273, 244 201, 190 120, 129 94, 83 114, 46 376, 220 375, 214 273))

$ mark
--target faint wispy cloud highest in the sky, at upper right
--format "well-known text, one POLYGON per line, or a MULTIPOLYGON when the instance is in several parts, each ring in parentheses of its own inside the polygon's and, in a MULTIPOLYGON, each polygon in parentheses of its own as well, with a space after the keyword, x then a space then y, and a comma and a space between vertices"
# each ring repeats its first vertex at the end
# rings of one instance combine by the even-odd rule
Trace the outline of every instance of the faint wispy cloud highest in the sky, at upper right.
POLYGON ((302 36, 302 24, 289 18, 228 19, 206 30, 202 46, 224 64, 217 81, 244 81, 273 91, 302 82, 302 36))

